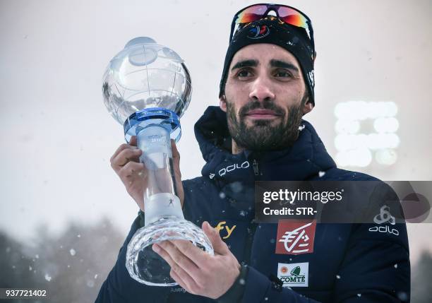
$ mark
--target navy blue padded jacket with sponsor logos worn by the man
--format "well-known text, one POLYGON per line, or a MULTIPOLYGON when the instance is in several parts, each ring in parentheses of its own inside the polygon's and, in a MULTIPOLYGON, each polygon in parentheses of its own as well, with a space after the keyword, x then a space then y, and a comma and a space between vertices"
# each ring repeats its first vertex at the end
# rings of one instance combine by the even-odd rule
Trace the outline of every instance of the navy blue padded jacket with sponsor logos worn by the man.
MULTIPOLYGON (((277 254, 278 225, 253 221, 256 180, 376 179, 338 169, 306 121, 287 150, 232 155, 226 119, 218 107, 208 107, 196 123, 196 138, 206 164, 202 177, 183 182, 184 215, 198 226, 204 220, 219 226, 234 256, 248 265, 241 302, 409 302, 404 224, 392 225, 397 234, 371 232, 374 224, 317 224, 313 252, 277 254), (288 283, 280 287, 271 275, 289 277, 285 279, 288 283)), ((96 302, 215 302, 179 286, 149 287, 128 275, 126 246, 141 225, 138 217, 96 302)))

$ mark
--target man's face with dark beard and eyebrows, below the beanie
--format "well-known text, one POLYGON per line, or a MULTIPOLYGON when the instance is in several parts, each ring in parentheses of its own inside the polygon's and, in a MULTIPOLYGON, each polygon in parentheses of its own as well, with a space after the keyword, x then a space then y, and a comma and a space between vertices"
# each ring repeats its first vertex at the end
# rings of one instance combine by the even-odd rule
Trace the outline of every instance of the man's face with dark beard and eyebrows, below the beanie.
POLYGON ((220 107, 236 145, 277 150, 299 136, 306 86, 296 58, 275 44, 250 44, 234 55, 220 107))

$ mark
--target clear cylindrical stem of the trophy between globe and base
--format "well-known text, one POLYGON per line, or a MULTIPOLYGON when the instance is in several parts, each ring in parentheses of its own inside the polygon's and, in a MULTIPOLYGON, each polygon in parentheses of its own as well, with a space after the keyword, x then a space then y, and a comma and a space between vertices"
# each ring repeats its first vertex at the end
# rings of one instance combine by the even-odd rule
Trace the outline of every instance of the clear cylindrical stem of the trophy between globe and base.
POLYGON ((138 148, 143 150, 140 162, 147 169, 144 192, 145 226, 160 218, 184 219, 177 196, 170 132, 161 124, 137 127, 138 148))

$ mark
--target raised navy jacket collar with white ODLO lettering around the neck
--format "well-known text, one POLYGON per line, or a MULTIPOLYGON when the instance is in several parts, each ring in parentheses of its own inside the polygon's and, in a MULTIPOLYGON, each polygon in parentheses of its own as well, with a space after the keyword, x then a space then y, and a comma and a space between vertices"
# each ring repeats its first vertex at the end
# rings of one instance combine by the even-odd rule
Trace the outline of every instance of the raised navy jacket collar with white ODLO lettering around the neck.
MULTIPOLYGON (((206 164, 203 177, 222 184, 252 185, 256 180, 304 180, 335 167, 313 126, 302 120, 302 130, 292 147, 256 155, 248 150, 232 155, 227 115, 220 107, 208 107, 195 124, 195 135, 206 164), (304 126, 304 127, 303 127, 304 126), (254 172, 254 163, 258 175, 254 172)), ((222 186, 222 184, 220 184, 222 186)))

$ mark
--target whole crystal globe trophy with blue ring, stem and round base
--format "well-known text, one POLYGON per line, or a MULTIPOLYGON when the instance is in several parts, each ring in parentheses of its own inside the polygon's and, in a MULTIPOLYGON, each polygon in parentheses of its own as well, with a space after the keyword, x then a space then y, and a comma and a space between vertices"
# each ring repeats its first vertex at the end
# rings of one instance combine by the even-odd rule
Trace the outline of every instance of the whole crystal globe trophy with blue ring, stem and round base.
POLYGON ((181 136, 179 118, 191 101, 191 76, 172 49, 137 37, 109 62, 102 83, 105 106, 124 126, 127 142, 136 136, 146 168, 145 226, 128 244, 126 268, 139 283, 177 285, 152 244, 184 239, 214 254, 203 230, 184 220, 176 195, 170 139, 179 141, 181 136))

